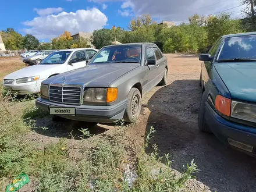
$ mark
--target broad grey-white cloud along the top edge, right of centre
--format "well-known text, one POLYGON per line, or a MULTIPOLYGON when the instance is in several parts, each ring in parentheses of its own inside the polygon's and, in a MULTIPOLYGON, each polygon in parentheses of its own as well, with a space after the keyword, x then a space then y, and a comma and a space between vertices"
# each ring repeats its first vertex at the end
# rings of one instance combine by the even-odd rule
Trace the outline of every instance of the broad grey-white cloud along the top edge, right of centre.
MULTIPOLYGON (((118 0, 91 0, 93 2, 116 2, 118 0)), ((135 15, 145 13, 151 14, 153 17, 160 17, 161 20, 170 20, 174 22, 182 22, 188 20, 189 16, 198 13, 199 15, 210 15, 212 13, 233 12, 233 17, 241 16, 241 10, 244 6, 240 6, 240 0, 120 0, 123 2, 122 7, 128 5, 135 15), (239 6, 234 8, 235 6, 239 6), (232 9, 231 9, 232 8, 232 9)), ((128 7, 127 7, 128 8, 128 7)))

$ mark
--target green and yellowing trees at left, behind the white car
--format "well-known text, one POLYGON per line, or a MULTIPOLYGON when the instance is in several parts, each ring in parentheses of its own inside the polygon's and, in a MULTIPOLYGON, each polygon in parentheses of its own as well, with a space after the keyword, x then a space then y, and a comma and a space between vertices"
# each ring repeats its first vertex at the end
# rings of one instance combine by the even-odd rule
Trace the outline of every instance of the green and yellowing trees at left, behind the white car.
POLYGON ((39 42, 31 34, 22 35, 13 28, 7 28, 5 31, 0 31, 3 43, 6 49, 10 50, 46 50, 46 49, 69 49, 69 48, 85 48, 90 47, 88 41, 83 37, 74 40, 71 33, 64 31, 59 37, 53 38, 51 42, 39 42))

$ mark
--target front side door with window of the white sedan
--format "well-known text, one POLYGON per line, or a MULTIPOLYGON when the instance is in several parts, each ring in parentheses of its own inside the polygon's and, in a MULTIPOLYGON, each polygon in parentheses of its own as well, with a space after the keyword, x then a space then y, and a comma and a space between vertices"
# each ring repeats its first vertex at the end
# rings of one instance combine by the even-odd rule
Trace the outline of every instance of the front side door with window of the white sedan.
POLYGON ((69 65, 67 65, 67 70, 78 69, 80 67, 86 66, 86 52, 85 50, 79 50, 73 53, 69 59, 69 65))

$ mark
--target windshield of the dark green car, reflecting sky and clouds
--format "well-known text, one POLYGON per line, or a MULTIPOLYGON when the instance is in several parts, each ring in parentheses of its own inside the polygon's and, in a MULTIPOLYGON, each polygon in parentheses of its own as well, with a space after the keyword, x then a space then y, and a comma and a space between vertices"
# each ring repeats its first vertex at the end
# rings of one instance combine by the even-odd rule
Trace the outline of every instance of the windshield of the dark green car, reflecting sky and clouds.
POLYGON ((218 61, 256 59, 256 35, 229 37, 224 40, 218 61))

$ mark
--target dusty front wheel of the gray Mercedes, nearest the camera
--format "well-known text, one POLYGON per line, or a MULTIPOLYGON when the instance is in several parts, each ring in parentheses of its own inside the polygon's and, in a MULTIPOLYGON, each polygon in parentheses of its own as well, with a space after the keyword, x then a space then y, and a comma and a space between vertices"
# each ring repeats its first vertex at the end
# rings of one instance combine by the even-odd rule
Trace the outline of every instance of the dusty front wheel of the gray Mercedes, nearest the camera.
POLYGON ((137 88, 131 88, 126 102, 124 119, 128 123, 136 122, 140 116, 141 110, 141 94, 137 88))

